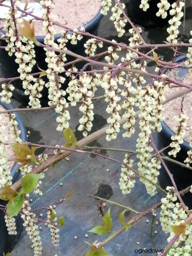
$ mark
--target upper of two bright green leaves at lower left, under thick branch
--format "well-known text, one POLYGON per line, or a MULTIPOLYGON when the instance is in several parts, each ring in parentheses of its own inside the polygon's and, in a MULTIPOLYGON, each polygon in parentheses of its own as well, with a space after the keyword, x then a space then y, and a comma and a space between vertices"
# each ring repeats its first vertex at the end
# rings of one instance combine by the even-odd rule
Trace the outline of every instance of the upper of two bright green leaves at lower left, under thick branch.
POLYGON ((24 194, 28 194, 36 187, 40 178, 42 178, 42 174, 31 173, 25 175, 21 180, 21 187, 24 194))

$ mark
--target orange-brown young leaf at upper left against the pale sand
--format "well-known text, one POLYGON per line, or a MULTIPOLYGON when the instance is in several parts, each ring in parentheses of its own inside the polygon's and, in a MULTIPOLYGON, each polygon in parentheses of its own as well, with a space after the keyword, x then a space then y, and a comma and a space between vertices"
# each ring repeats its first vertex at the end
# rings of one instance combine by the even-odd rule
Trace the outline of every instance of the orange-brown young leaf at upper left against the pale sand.
POLYGON ((23 26, 19 26, 19 33, 39 45, 35 37, 35 22, 31 25, 29 21, 23 19, 23 26))

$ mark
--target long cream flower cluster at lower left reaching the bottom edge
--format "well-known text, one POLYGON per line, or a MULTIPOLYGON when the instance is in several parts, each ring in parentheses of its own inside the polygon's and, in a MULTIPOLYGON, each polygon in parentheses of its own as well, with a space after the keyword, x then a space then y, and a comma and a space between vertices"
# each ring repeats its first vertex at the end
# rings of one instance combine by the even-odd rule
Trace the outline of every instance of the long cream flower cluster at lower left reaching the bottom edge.
POLYGON ((42 254, 42 242, 38 226, 35 224, 37 222, 35 214, 29 212, 30 210, 29 202, 25 200, 23 203, 23 214, 21 215, 21 218, 24 220, 23 226, 26 227, 25 230, 32 241, 31 248, 34 249, 34 256, 40 256, 42 254))

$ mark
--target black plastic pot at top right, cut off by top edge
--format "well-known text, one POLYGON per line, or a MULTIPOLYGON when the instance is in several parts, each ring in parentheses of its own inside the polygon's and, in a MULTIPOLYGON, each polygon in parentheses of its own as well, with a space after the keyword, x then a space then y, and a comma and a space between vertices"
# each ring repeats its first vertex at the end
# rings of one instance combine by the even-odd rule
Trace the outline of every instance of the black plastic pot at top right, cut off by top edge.
MULTIPOLYGON (((170 20, 171 16, 169 14, 169 10, 167 12, 167 17, 162 19, 161 17, 156 16, 156 12, 158 12, 159 8, 157 4, 159 0, 149 1, 149 8, 146 12, 144 12, 139 6, 141 4, 141 0, 130 0, 129 2, 129 13, 132 19, 143 27, 163 27, 170 20)), ((173 4, 174 0, 168 0, 170 4, 173 4)))

